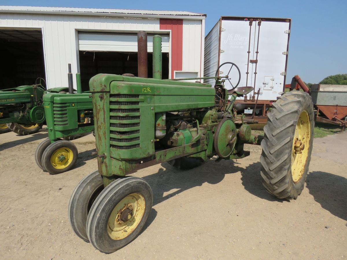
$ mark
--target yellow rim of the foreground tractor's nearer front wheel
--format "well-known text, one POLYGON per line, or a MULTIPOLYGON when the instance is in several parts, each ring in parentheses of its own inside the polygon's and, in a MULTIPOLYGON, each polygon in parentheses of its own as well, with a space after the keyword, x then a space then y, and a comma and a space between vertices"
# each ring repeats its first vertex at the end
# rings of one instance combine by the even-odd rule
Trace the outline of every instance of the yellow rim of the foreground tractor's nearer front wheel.
POLYGON ((108 220, 107 232, 111 239, 121 240, 130 235, 141 222, 145 208, 145 198, 137 192, 119 201, 108 220))

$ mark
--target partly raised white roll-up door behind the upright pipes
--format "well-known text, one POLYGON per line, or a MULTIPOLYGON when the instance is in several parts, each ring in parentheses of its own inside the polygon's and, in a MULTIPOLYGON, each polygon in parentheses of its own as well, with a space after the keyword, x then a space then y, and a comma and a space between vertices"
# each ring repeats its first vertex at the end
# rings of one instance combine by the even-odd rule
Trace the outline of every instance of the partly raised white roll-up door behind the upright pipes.
MULTIPOLYGON (((147 51, 153 52, 153 36, 147 35, 147 51)), ((169 35, 161 34, 162 52, 169 52, 169 35)), ((137 52, 137 34, 78 32, 80 51, 137 52)))

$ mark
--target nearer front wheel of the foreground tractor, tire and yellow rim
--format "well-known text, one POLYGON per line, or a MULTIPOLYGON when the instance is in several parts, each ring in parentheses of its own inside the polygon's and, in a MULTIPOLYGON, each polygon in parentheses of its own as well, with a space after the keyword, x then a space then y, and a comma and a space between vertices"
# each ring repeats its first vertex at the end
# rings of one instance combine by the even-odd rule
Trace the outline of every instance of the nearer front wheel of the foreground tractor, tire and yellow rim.
POLYGON ((114 252, 141 232, 153 203, 151 187, 139 177, 113 181, 96 198, 87 218, 87 235, 104 253, 114 252))

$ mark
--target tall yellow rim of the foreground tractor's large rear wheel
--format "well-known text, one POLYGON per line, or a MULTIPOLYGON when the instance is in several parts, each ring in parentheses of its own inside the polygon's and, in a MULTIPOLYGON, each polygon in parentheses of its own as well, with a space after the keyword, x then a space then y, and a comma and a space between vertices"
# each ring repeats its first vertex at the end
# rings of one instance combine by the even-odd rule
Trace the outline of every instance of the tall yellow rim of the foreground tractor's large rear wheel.
POLYGON ((291 176, 298 183, 304 174, 311 139, 310 117, 307 111, 301 112, 296 124, 291 151, 291 176))

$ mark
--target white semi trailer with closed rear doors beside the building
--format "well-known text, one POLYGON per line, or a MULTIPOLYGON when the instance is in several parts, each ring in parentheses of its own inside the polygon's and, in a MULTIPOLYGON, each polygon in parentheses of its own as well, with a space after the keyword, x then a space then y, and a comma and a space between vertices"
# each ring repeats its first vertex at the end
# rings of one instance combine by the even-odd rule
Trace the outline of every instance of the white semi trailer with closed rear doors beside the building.
POLYGON ((266 122, 266 112, 284 91, 290 24, 291 19, 283 18, 222 16, 205 37, 204 77, 226 75, 232 65, 226 62, 235 63, 240 71, 231 68, 225 86, 235 86, 240 73, 238 86, 254 87, 250 95, 237 99, 238 112, 254 112, 260 123, 266 122))

